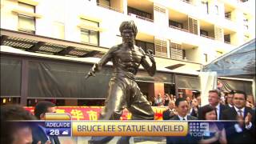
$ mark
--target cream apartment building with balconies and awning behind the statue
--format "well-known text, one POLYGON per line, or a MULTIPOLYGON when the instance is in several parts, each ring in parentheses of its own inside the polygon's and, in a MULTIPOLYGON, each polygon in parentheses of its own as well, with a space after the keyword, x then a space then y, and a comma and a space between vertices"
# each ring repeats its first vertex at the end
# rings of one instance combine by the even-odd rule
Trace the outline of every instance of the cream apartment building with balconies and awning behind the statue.
POLYGON ((158 74, 154 78, 142 70, 138 73, 142 93, 150 98, 158 93, 192 94, 191 90, 200 90, 198 70, 202 65, 255 38, 254 7, 250 6, 254 6, 253 0, 1 0, 1 46, 15 48, 1 51, 1 66, 14 64, 20 70, 14 94, 10 89, 15 86, 2 81, 6 85, 1 99, 18 98, 23 105, 35 98, 69 99, 66 105, 78 104, 79 98, 104 99, 109 69, 90 80, 98 85, 104 83, 103 92, 86 82, 62 86, 65 82, 60 79, 78 82, 82 71, 89 70, 90 64, 111 46, 121 43, 118 27, 125 20, 134 20, 138 26, 136 44, 153 50, 157 61, 158 74), (54 83, 42 80, 40 74, 49 70, 47 66, 72 71, 72 66, 59 67, 63 62, 66 66, 74 64, 73 72, 79 71, 79 76, 56 78, 57 87, 34 84, 54 83), (83 84, 86 90, 82 90, 83 84), (65 91, 65 87, 72 86, 80 87, 65 91), (53 91, 59 87, 65 92, 53 91))

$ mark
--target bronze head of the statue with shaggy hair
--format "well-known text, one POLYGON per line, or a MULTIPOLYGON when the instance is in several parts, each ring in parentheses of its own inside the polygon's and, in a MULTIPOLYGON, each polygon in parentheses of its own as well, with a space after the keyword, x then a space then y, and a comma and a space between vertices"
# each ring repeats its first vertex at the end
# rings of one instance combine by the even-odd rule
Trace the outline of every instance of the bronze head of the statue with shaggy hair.
POLYGON ((136 34, 138 32, 137 26, 135 26, 134 21, 122 22, 119 30, 122 35, 122 42, 128 43, 130 46, 133 46, 136 34))

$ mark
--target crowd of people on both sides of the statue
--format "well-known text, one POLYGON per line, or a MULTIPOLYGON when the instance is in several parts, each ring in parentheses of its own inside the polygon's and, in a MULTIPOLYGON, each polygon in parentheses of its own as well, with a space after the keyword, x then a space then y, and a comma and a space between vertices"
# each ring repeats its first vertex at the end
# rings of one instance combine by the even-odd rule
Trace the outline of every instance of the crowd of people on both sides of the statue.
MULTIPOLYGON (((174 95, 165 94, 162 98, 158 94, 155 106, 166 106, 163 111, 163 120, 234 120, 234 125, 210 123, 208 134, 200 139, 167 137, 166 143, 251 143, 255 142, 255 106, 254 97, 246 95, 243 91, 231 91, 222 94, 218 90, 210 90, 208 104, 201 105, 200 94, 188 98, 182 95, 176 98, 174 95)), ((22 124, 12 123, 10 120, 44 120, 46 113, 54 113, 55 105, 52 102, 38 102, 34 107, 34 115, 22 106, 1 106, 1 143, 11 144, 58 144, 58 137, 46 135, 44 127, 31 125, 27 122, 22 124)))

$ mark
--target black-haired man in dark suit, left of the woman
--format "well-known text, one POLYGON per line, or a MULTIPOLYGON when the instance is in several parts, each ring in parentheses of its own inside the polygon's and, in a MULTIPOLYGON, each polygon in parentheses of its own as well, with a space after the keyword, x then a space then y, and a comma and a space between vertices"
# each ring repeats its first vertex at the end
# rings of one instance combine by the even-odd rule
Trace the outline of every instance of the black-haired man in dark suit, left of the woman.
MULTIPOLYGON (((189 103, 185 98, 178 98, 175 102, 177 115, 170 118, 170 120, 187 121, 187 120, 197 120, 198 118, 188 115, 189 103)), ((196 143, 195 139, 190 137, 190 134, 184 137, 166 137, 166 144, 174 143, 196 143)))

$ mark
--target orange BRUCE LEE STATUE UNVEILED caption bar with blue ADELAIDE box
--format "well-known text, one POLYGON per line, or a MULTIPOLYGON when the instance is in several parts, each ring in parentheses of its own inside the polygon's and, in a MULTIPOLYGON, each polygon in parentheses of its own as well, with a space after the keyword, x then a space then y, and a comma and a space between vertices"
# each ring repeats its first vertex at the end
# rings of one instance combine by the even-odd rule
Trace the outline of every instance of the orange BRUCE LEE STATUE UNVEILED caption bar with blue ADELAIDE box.
POLYGON ((54 136, 186 136, 188 122, 165 121, 46 121, 54 136))

